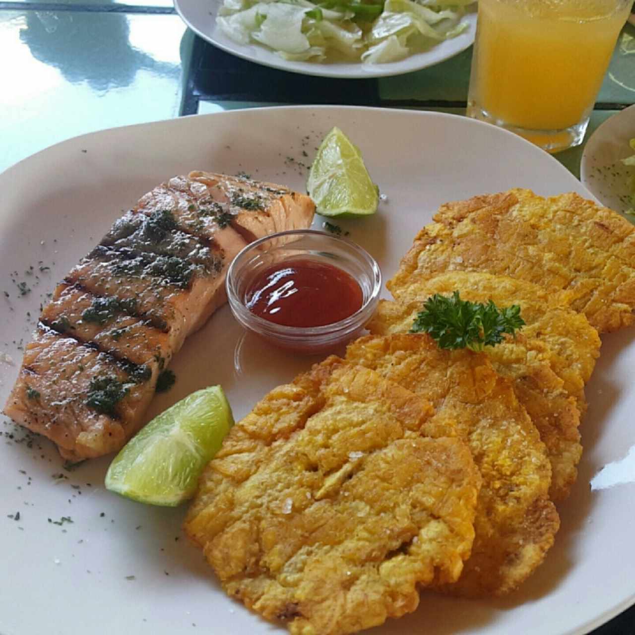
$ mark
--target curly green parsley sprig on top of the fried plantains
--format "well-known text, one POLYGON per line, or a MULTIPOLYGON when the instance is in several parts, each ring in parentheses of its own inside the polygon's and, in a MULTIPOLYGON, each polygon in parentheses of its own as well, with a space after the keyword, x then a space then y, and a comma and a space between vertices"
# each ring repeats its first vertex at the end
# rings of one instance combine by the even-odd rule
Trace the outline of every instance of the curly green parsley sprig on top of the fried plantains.
POLYGON ((410 329, 411 333, 428 333, 442 349, 483 351, 503 341, 504 333, 514 335, 523 328, 517 304, 498 309, 492 300, 487 304, 461 300, 458 291, 450 297, 435 293, 424 302, 410 329))

